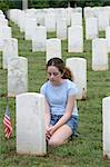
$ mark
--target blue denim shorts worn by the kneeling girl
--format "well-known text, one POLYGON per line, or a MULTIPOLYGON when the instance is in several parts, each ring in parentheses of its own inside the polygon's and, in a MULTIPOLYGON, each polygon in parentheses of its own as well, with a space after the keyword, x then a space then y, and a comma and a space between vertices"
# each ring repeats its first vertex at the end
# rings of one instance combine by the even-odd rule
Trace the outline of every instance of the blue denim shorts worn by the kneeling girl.
MULTIPOLYGON (((51 115, 50 125, 56 125, 62 115, 51 115)), ((71 116, 71 118, 66 122, 72 130, 72 136, 78 128, 78 116, 71 116)))

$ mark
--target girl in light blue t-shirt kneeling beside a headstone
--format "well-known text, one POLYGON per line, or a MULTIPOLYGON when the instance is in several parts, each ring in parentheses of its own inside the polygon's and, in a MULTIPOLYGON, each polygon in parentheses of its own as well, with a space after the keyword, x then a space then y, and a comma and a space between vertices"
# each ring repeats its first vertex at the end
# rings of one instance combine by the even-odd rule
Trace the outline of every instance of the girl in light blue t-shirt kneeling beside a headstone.
POLYGON ((68 141, 78 127, 78 88, 59 58, 48 61, 47 73, 48 81, 40 90, 46 97, 46 138, 48 145, 58 146, 68 141))

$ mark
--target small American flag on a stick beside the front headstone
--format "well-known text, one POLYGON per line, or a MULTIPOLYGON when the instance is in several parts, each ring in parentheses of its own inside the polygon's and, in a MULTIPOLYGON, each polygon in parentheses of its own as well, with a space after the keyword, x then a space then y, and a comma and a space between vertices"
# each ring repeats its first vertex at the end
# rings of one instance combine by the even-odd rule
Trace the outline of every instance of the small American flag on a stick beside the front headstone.
POLYGON ((4 125, 4 136, 7 139, 11 137, 12 134, 12 126, 11 126, 11 120, 10 120, 10 115, 9 115, 9 107, 7 106, 6 115, 3 118, 3 125, 4 125))

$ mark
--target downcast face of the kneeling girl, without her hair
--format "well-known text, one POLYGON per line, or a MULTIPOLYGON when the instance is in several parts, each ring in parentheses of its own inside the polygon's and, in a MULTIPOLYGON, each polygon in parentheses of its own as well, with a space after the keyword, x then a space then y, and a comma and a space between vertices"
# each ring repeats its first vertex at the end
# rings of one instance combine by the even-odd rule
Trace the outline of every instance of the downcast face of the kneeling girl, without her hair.
POLYGON ((56 66, 49 66, 48 67, 48 79, 53 85, 60 85, 62 81, 62 73, 59 71, 59 69, 56 66))

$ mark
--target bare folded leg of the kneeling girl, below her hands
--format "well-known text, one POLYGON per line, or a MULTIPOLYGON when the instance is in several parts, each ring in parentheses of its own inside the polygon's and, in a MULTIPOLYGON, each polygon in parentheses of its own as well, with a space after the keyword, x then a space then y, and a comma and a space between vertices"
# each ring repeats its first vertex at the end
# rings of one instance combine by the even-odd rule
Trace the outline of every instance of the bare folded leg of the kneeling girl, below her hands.
POLYGON ((53 132, 51 138, 48 140, 48 144, 50 146, 59 146, 66 144, 71 135, 72 135, 71 128, 68 125, 63 125, 53 132))

